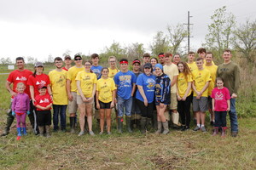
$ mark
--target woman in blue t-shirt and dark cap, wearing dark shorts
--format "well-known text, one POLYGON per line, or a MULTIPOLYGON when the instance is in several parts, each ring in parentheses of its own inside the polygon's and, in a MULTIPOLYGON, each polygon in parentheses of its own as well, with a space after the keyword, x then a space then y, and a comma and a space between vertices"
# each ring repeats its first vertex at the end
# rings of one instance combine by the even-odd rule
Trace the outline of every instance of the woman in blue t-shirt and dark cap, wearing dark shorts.
POLYGON ((143 74, 137 77, 136 101, 141 111, 141 132, 146 133, 146 124, 151 122, 154 108, 155 77, 152 74, 152 65, 143 65, 143 74))

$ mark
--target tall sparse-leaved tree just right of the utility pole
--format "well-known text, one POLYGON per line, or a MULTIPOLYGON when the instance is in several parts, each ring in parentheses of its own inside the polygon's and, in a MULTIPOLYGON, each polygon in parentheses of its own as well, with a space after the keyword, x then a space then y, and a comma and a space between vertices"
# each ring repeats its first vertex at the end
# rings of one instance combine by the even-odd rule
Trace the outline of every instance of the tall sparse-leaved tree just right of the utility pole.
POLYGON ((212 24, 208 25, 206 43, 203 46, 216 51, 221 56, 224 48, 230 48, 232 31, 236 26, 234 14, 227 13, 226 7, 218 8, 211 16, 212 24))

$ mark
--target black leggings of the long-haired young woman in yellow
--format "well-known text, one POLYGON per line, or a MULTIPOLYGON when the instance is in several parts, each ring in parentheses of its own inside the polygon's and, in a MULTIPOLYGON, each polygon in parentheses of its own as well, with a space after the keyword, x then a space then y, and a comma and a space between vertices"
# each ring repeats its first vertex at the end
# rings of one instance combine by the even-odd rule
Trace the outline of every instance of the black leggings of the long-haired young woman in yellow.
POLYGON ((189 127, 190 124, 190 105, 192 94, 187 97, 185 101, 177 101, 177 111, 181 117, 183 125, 189 127))

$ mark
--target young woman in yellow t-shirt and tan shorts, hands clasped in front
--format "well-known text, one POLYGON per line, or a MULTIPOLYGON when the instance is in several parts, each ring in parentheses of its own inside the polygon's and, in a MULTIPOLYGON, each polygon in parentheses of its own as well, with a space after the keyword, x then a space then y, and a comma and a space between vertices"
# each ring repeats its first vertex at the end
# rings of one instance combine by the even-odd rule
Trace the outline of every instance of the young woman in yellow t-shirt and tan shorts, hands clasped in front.
POLYGON ((79 71, 76 77, 78 87, 77 103, 79 105, 79 136, 84 134, 84 116, 87 116, 88 128, 90 135, 94 135, 92 131, 92 105, 94 95, 96 93, 96 74, 90 70, 91 61, 85 61, 84 71, 79 71))

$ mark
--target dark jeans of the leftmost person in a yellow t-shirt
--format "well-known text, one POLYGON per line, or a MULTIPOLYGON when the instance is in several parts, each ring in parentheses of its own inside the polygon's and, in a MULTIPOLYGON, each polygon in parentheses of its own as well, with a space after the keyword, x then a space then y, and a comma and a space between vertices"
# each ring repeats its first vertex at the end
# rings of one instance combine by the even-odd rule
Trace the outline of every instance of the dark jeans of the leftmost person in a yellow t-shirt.
POLYGON ((66 110, 67 105, 53 105, 54 114, 53 114, 53 124, 54 130, 59 129, 59 115, 61 117, 61 130, 66 129, 66 110))

